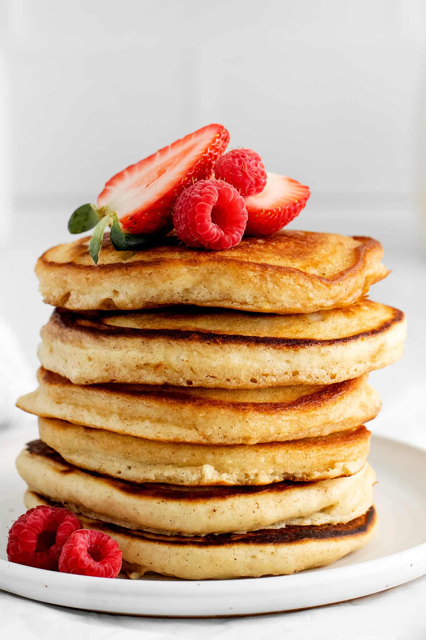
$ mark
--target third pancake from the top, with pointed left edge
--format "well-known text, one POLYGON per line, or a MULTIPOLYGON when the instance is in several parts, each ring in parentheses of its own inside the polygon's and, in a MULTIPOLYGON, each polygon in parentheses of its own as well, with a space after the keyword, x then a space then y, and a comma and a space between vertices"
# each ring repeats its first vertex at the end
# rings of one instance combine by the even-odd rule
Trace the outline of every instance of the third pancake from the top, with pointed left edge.
POLYGON ((164 442, 256 444, 327 435, 371 420, 379 394, 367 375, 331 385, 207 389, 73 385, 39 369, 40 386, 17 401, 24 411, 164 442))

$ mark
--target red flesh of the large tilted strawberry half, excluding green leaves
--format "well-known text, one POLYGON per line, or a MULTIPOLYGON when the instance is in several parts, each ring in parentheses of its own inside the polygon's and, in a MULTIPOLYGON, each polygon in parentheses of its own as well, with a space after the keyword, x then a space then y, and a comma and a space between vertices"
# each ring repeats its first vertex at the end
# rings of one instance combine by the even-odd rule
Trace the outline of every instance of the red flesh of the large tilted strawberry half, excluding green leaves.
POLYGON ((185 187, 212 175, 229 137, 221 124, 210 124, 128 166, 108 180, 98 207, 116 212, 122 228, 134 234, 168 230, 173 202, 185 187))

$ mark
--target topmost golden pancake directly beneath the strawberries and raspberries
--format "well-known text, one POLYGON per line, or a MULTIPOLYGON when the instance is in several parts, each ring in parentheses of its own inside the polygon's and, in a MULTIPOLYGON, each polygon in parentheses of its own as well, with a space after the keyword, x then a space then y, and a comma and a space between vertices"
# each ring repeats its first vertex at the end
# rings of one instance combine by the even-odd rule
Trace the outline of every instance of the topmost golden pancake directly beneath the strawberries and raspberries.
POLYGON ((290 230, 244 237, 217 252, 167 237, 150 249, 117 252, 106 236, 97 267, 88 243, 84 237, 59 244, 38 259, 45 302, 73 310, 184 304, 310 313, 350 305, 388 275, 381 244, 368 237, 290 230))

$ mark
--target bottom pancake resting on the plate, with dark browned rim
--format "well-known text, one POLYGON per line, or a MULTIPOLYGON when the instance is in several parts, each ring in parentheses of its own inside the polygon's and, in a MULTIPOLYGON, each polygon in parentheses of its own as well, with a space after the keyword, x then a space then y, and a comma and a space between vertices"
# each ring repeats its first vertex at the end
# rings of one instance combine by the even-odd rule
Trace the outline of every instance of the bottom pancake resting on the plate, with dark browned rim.
MULTIPOLYGON (((56 504, 26 492, 25 504, 56 504)), ((374 507, 346 524, 261 529, 246 534, 188 538, 125 529, 79 516, 86 529, 104 531, 118 542, 129 577, 146 572, 190 580, 282 575, 330 564, 363 547, 374 536, 374 507)))

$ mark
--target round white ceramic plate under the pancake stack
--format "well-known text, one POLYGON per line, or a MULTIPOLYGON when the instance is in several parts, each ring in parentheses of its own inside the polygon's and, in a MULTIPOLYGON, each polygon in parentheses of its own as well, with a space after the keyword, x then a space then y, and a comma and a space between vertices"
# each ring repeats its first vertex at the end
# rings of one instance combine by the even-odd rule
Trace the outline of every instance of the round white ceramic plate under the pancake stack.
POLYGON ((148 576, 107 580, 6 560, 8 527, 24 511, 14 458, 31 435, 1 438, 0 589, 78 609, 144 616, 235 616, 291 611, 377 593, 426 573, 426 451, 373 436, 379 527, 367 547, 335 564, 278 577, 187 580, 148 576))

